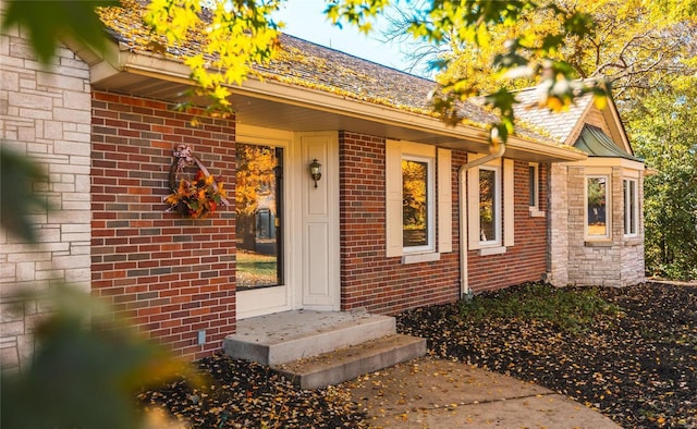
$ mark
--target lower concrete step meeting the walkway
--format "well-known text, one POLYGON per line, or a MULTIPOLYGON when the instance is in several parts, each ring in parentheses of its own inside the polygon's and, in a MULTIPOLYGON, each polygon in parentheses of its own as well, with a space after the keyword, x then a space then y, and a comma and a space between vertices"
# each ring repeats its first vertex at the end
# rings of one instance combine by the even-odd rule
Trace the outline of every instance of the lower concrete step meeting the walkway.
POLYGON ((425 354, 425 339, 393 334, 271 367, 301 389, 318 389, 421 357, 425 354))

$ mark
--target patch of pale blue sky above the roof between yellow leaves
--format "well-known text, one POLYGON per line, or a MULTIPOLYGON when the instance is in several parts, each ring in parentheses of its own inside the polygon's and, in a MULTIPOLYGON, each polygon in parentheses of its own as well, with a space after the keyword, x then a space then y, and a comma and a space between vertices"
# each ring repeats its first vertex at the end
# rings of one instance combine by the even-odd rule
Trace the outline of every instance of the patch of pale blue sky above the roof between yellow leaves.
POLYGON ((288 0, 274 19, 285 23, 282 32, 291 36, 398 70, 407 69, 408 63, 400 53, 399 45, 379 41, 381 35, 378 29, 374 29, 375 35, 366 37, 350 25, 335 27, 323 14, 325 8, 325 0, 288 0))

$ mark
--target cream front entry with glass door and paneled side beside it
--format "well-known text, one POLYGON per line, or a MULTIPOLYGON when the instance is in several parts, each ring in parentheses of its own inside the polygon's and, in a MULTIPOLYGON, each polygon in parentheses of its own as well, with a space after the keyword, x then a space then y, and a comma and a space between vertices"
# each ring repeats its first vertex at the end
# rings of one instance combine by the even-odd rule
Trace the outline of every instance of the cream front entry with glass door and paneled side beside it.
POLYGON ((339 310, 337 133, 237 124, 236 140, 237 318, 339 310), (317 187, 313 159, 322 164, 317 187))

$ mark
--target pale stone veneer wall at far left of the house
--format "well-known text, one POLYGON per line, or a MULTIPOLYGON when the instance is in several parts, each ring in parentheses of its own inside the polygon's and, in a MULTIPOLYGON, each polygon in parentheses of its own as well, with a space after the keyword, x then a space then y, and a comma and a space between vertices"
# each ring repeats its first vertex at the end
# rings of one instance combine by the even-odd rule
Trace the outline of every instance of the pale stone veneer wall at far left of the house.
POLYGON ((47 311, 40 298, 22 304, 22 290, 69 283, 89 291, 90 87, 88 66, 64 47, 40 64, 25 35, 0 35, 2 146, 24 154, 46 172, 36 192, 52 207, 32 214, 37 245, 0 232, 0 358, 3 370, 26 365, 32 327, 47 311))

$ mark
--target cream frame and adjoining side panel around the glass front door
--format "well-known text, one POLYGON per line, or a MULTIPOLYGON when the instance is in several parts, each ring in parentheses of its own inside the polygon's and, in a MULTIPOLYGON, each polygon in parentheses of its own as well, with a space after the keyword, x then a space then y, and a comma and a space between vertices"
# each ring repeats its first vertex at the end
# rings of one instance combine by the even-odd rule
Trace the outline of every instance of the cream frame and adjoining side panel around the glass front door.
MULTIPOLYGON (((339 133, 288 132, 237 124, 235 142, 277 146, 284 149, 283 160, 283 270, 284 285, 241 291, 236 294, 237 319, 272 312, 313 309, 341 309, 339 133), (309 143, 308 143, 309 142, 309 143), (322 177, 315 189, 308 166, 321 159, 322 177), (306 159, 307 158, 307 159, 306 159), (314 248, 313 228, 318 225, 317 191, 322 195, 319 224, 323 222, 327 242, 314 248), (310 248, 313 247, 313 248, 310 248), (320 252, 319 257, 316 252, 320 252), (322 260, 325 267, 319 267, 322 260), (322 272, 321 275, 318 275, 322 272), (325 284, 326 282, 326 284, 325 284), (325 291, 322 291, 322 287, 325 291), (320 296, 326 292, 326 295, 320 296), (318 295, 319 293, 319 295, 318 295)), ((321 228, 321 226, 320 226, 321 228)), ((314 242, 317 243, 317 242, 314 242)))

